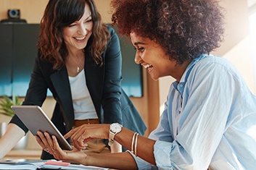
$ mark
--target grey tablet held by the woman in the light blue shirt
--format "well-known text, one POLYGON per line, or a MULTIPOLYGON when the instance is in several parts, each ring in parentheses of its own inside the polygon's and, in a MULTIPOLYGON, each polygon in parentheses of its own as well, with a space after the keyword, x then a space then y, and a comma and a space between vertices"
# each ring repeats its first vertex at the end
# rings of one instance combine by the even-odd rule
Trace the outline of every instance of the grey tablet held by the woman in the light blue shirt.
POLYGON ((49 135, 57 137, 60 148, 72 150, 70 144, 67 143, 67 140, 65 140, 40 106, 11 106, 11 108, 33 135, 37 135, 38 131, 48 132, 49 135))

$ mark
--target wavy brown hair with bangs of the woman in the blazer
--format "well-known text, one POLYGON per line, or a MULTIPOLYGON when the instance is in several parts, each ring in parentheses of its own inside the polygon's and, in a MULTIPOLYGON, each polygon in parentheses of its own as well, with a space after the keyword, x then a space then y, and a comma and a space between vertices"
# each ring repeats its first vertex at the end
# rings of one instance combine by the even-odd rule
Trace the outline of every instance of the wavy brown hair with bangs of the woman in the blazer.
MULTIPOLYGON (((102 23, 102 17, 97 12, 93 0, 49 0, 41 20, 41 30, 38 37, 38 48, 41 59, 53 64, 53 69, 60 69, 65 65, 67 48, 63 39, 63 27, 67 27, 80 20, 84 8, 88 4, 94 22, 93 42, 90 54, 96 64, 102 65, 102 53, 107 46, 110 33, 102 23)), ((91 39, 91 38, 90 38, 91 39)))

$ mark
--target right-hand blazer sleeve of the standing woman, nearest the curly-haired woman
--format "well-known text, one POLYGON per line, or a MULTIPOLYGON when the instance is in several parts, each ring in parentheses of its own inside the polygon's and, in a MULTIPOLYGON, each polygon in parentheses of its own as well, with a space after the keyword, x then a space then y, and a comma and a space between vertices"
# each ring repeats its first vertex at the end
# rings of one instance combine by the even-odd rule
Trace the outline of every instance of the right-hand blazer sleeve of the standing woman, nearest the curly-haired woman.
POLYGON ((104 56, 104 87, 102 94, 102 107, 104 109, 104 123, 118 122, 123 124, 121 114, 121 67, 122 56, 117 34, 112 27, 108 27, 111 39, 107 43, 104 56))

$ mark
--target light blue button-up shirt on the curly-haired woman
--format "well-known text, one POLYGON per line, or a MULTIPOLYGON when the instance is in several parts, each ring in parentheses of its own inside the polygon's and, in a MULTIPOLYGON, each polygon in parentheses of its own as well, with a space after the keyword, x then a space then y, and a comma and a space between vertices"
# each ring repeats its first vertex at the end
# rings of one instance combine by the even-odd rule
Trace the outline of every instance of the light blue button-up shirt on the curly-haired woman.
POLYGON ((133 156, 139 169, 254 170, 255 95, 229 61, 201 55, 171 85, 149 138, 157 167, 133 156))

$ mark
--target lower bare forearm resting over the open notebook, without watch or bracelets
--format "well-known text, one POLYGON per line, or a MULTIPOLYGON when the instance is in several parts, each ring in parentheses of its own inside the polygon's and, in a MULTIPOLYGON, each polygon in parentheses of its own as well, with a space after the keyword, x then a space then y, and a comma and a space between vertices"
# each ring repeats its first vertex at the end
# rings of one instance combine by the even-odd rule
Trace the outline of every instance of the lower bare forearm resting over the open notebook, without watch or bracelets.
POLYGON ((90 166, 101 166, 111 169, 138 169, 130 153, 88 153, 86 160, 80 163, 90 166), (85 163, 86 162, 86 163, 85 163))

